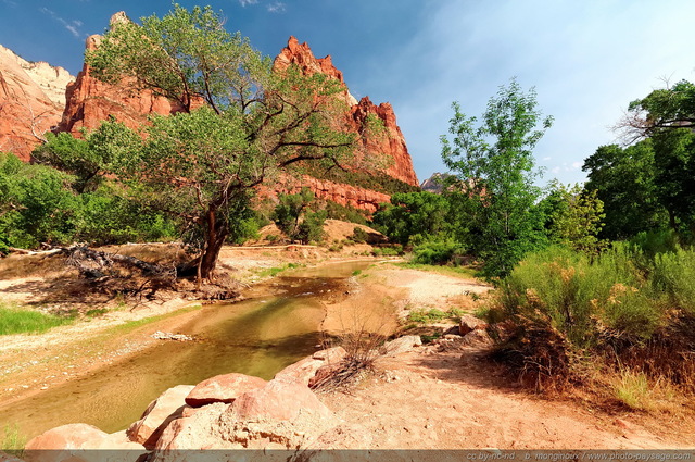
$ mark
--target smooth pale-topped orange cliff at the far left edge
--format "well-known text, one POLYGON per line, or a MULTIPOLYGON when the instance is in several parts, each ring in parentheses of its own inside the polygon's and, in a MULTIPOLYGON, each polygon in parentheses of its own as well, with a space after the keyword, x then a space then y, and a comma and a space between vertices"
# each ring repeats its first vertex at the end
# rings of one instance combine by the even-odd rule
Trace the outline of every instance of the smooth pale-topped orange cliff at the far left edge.
POLYGON ((62 67, 29 63, 0 46, 0 151, 28 161, 43 134, 60 122, 65 86, 73 78, 62 67))

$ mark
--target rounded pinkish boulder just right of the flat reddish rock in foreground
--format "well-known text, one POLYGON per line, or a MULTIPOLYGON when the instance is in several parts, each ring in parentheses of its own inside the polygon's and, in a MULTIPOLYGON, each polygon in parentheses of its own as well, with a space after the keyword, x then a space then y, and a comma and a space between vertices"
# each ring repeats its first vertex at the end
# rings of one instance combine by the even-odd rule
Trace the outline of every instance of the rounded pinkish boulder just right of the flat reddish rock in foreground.
POLYGON ((304 384, 273 379, 263 388, 248 391, 231 404, 238 420, 292 421, 302 413, 330 419, 332 412, 304 384))

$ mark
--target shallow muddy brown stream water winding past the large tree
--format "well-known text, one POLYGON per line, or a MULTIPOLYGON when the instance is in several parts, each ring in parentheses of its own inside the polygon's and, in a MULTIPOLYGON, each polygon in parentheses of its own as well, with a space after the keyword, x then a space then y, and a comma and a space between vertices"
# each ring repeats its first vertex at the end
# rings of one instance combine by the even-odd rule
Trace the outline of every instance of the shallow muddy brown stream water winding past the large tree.
MULTIPOLYGON (((230 372, 269 379, 317 349, 325 316, 320 300, 344 290, 343 279, 368 264, 295 271, 273 283, 271 297, 187 313, 190 320, 177 333, 197 336, 200 341, 162 341, 88 376, 10 407, 0 404, 0 423, 16 425, 28 438, 76 422, 112 433, 140 419, 149 402, 173 386, 194 385, 230 372)), ((148 330, 157 330, 157 325, 149 325, 148 330)))

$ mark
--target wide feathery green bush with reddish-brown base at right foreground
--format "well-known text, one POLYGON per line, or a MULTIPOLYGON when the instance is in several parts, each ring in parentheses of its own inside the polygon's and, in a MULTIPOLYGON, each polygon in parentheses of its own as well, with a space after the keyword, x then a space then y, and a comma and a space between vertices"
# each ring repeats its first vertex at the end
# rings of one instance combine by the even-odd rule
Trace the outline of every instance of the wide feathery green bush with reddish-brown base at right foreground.
POLYGON ((594 259, 561 247, 529 254, 489 312, 513 326, 498 355, 555 383, 571 378, 574 359, 593 358, 693 387, 694 282, 691 250, 654 260, 624 245, 594 259))

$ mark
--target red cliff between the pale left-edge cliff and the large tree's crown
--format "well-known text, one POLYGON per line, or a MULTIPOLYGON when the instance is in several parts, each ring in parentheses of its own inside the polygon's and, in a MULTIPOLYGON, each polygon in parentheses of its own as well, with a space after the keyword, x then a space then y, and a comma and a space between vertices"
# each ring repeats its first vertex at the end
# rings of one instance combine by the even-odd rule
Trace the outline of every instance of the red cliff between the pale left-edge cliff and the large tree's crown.
MULTIPOLYGON (((101 36, 92 35, 87 38, 87 50, 94 50, 100 42, 101 36)), ((58 129, 73 135, 79 135, 81 128, 98 128, 109 116, 137 128, 147 122, 149 114, 167 115, 181 111, 179 105, 164 97, 154 96, 152 91, 134 92, 127 80, 119 85, 99 82, 90 75, 87 63, 77 74, 77 79, 67 86, 66 98, 65 112, 58 129)))

